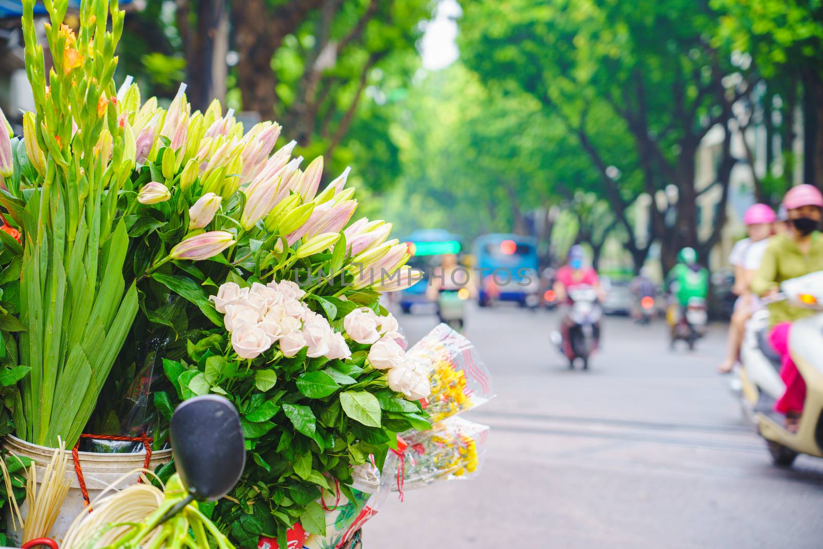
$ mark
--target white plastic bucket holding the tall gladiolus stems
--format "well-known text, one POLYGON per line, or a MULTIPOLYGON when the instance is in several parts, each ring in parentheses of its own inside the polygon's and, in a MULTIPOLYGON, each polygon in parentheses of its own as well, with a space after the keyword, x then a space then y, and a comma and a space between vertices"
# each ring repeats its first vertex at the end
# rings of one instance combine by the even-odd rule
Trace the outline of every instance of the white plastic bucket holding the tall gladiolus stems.
MULTIPOLYGON (((40 479, 45 468, 51 462, 54 455, 54 449, 46 448, 38 444, 31 444, 25 440, 20 440, 16 436, 7 435, 2 442, 3 448, 7 449, 13 454, 25 458, 31 458, 37 468, 37 478, 40 479)), ((70 482, 66 499, 63 501, 63 507, 60 508, 57 520, 49 533, 49 537, 57 541, 63 542, 68 527, 77 515, 86 509, 86 501, 83 500, 83 493, 80 490, 80 482, 77 480, 77 473, 74 471, 74 460, 72 458, 72 450, 67 449, 68 465, 66 468, 66 476, 70 482)), ((134 454, 98 454, 95 452, 78 452, 77 457, 80 461, 80 468, 83 472, 83 480, 86 482, 86 490, 89 492, 89 499, 93 502, 95 497, 105 490, 108 486, 119 481, 123 475, 132 472, 135 469, 142 469, 146 464, 146 453, 139 452, 134 454)), ((171 461, 171 449, 157 450, 151 453, 151 461, 149 462, 149 470, 154 469, 162 464, 171 461)), ((139 473, 135 472, 131 476, 119 483, 119 487, 128 486, 136 483, 139 473)), ((6 523, 8 528, 8 538, 15 547, 21 545, 21 535, 23 533, 20 524, 17 523, 17 528, 12 527, 11 505, 6 505, 6 523)), ((26 520, 26 504, 21 507, 23 520, 26 520)))

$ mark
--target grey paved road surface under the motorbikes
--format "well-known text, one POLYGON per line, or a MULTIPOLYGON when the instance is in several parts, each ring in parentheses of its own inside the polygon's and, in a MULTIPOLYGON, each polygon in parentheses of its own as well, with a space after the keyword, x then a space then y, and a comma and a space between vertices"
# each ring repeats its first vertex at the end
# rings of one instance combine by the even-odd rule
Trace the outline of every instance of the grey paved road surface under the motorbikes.
MULTIPOLYGON (((823 547, 823 460, 773 468, 714 373, 718 327, 670 352, 663 324, 609 318, 588 372, 548 342, 545 311, 477 309, 467 336, 497 398, 481 476, 390 496, 366 549, 823 547)), ((416 341, 435 319, 404 316, 416 341)))

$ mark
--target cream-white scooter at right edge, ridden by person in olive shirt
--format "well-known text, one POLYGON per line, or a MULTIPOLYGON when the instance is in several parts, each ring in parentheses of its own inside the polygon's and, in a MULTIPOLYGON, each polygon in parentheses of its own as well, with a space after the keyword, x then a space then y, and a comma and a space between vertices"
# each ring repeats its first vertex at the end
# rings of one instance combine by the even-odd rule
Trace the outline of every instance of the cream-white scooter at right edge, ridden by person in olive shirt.
POLYGON ((786 387, 779 375, 780 357, 768 341, 766 311, 757 312, 746 326, 741 366, 731 388, 740 399, 742 412, 765 440, 774 465, 789 468, 799 454, 823 458, 823 272, 784 281, 780 290, 763 301, 788 300, 818 312, 794 322, 789 333, 789 352, 806 381, 806 401, 797 432, 787 430, 783 416, 774 412, 774 402, 786 387))

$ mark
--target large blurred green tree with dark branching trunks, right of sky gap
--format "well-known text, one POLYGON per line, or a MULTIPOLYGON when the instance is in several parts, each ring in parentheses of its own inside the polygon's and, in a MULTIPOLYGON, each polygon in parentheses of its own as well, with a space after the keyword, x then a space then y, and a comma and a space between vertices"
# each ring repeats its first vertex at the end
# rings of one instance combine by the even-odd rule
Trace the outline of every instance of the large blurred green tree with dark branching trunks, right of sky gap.
MULTIPOLYGON (((693 246, 705 258, 725 222, 731 156, 732 105, 751 89, 744 74, 737 85, 723 78, 733 67, 727 52, 708 40, 718 19, 697 0, 481 0, 467 4, 461 51, 483 77, 514 82, 555 114, 577 138, 602 182, 602 191, 628 235, 628 210, 640 190, 654 196, 675 185, 677 215, 666 226, 657 201, 648 201, 654 240, 671 266, 677 250, 693 246), (617 128, 635 149, 627 158, 601 133, 617 128), (714 180, 695 182, 695 154, 712 128, 723 128, 714 180), (642 187, 616 174, 640 174, 642 187), (701 193, 717 188, 714 212, 700 212, 701 193), (700 235, 699 217, 713 216, 714 229, 700 235), (702 236, 702 238, 701 238, 702 236)), ((626 240, 635 265, 650 242, 626 240)))

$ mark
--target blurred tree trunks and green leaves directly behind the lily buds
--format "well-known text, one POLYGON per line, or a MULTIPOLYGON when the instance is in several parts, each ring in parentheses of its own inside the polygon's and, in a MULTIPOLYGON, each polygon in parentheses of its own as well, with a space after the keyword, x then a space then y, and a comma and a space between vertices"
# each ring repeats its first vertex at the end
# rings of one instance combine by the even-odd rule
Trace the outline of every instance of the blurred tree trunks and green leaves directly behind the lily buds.
POLYGON ((432 0, 150 0, 130 12, 124 72, 194 108, 217 97, 281 123, 306 157, 382 191, 398 179, 394 109, 420 67, 416 40, 432 0), (226 55, 233 67, 226 64, 226 55), (236 61, 236 63, 234 63, 236 61))

